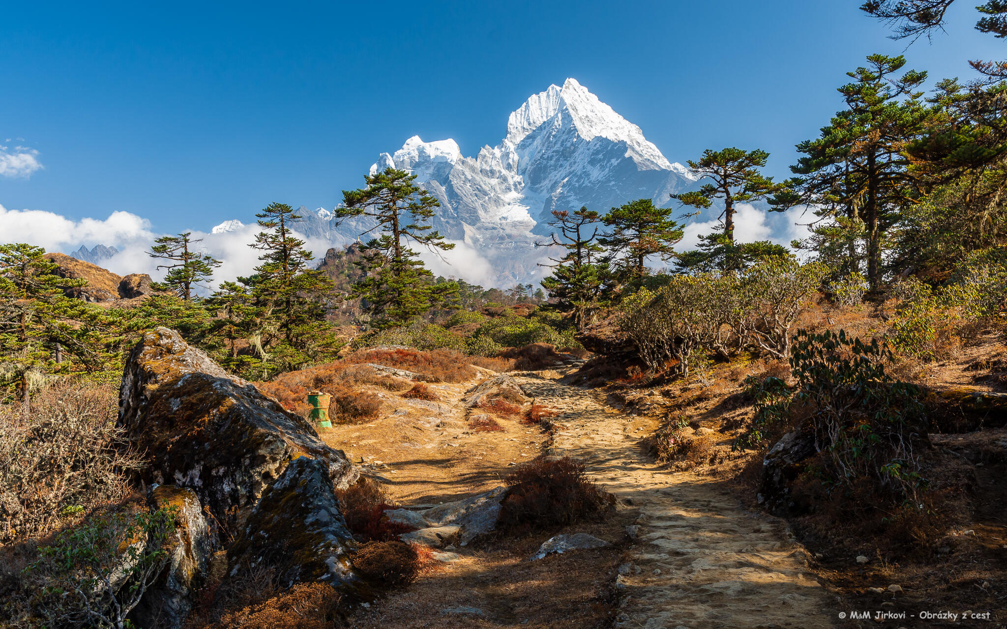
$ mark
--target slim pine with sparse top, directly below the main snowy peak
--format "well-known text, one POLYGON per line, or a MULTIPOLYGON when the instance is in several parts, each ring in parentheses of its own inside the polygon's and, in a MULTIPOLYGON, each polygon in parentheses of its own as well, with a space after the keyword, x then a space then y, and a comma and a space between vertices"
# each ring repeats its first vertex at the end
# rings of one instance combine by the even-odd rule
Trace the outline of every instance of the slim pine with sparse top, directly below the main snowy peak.
MULTIPOLYGON (((601 216, 587 207, 573 213, 559 209, 552 213, 549 224, 557 231, 550 234, 548 243, 536 243, 536 247, 560 247, 566 254, 550 258, 552 265, 542 265, 553 269, 552 275, 542 280, 542 287, 555 300, 554 307, 573 318, 579 331, 604 305, 608 265, 598 260, 605 253, 597 242, 601 216)), ((542 301, 538 293, 536 299, 542 301)))

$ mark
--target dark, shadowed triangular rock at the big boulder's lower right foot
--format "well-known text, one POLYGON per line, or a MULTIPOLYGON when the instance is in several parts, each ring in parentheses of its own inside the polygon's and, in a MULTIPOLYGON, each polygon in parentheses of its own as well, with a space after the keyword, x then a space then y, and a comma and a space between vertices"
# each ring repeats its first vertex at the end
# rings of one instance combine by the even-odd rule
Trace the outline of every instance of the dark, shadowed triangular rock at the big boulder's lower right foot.
POLYGON ((348 559, 353 537, 339 512, 324 461, 301 457, 262 494, 228 548, 229 575, 264 564, 283 585, 324 581, 355 589, 348 559))

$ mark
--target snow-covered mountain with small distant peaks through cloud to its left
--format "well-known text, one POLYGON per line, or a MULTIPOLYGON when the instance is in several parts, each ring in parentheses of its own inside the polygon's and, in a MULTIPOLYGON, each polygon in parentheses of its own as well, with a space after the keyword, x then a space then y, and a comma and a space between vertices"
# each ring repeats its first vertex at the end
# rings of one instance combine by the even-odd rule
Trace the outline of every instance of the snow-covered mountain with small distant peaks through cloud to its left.
MULTIPOLYGON (((549 233, 554 209, 586 205, 603 212, 637 198, 667 206, 670 194, 697 187, 688 168, 670 162, 639 127, 573 78, 529 98, 509 117, 500 143, 475 157, 463 156, 454 140, 413 136, 398 151, 382 153, 371 172, 388 166, 417 175, 441 203, 434 228, 485 258, 500 286, 543 276, 538 263, 547 253, 535 243, 549 233)), ((298 232, 333 245, 374 226, 366 219, 337 225, 322 208, 302 206, 298 213, 298 232)), ((227 221, 213 231, 239 226, 227 221)))

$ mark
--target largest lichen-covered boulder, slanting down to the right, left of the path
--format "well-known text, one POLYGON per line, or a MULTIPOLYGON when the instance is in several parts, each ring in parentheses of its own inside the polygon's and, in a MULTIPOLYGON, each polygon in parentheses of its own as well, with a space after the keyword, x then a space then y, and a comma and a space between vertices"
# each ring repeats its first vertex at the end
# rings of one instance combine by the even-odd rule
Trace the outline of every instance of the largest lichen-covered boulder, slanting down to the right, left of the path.
POLYGON ((359 473, 307 420, 163 327, 144 335, 130 354, 119 422, 146 453, 145 482, 190 487, 226 526, 240 525, 297 457, 322 461, 338 487, 359 473))

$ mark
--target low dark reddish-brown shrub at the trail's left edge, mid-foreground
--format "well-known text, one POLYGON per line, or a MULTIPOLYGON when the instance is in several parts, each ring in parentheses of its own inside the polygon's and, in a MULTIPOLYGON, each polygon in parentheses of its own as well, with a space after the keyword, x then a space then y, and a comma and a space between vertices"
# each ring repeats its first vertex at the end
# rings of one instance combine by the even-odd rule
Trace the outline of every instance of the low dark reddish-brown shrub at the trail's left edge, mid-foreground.
POLYGON ((598 514, 615 498, 585 477, 583 461, 538 457, 517 466, 506 482, 499 524, 508 527, 562 526, 598 514))

